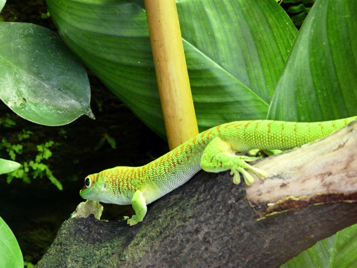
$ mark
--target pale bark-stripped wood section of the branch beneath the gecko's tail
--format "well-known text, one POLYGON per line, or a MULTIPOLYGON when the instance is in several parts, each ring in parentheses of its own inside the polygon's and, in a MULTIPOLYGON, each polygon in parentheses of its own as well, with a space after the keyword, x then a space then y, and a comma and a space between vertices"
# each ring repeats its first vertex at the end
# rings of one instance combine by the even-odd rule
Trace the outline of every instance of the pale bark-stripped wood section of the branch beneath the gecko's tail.
MULTIPOLYGON (((247 188, 259 215, 329 202, 357 201, 357 124, 289 152, 266 158, 256 167, 266 179, 247 188)), ((259 180, 259 179, 258 179, 259 180)))

